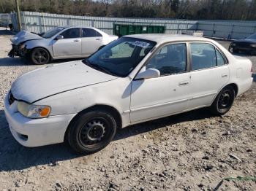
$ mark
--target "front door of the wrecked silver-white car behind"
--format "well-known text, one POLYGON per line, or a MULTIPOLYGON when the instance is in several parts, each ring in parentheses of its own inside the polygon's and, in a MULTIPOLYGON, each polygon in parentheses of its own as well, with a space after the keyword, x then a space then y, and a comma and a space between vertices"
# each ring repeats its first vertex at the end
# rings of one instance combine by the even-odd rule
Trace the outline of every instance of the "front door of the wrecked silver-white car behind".
POLYGON ((64 38, 53 42, 54 57, 79 57, 81 55, 80 28, 69 28, 60 35, 64 36, 64 38))

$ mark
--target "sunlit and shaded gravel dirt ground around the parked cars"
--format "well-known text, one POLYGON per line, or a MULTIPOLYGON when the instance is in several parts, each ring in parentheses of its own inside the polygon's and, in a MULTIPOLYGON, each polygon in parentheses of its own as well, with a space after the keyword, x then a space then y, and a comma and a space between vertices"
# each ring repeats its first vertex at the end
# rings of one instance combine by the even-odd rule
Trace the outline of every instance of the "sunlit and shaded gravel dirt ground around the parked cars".
POLYGON ((10 37, 0 30, 0 190, 256 190, 252 180, 222 182, 256 176, 256 77, 224 117, 200 109, 133 125, 94 155, 26 148, 12 138, 3 99, 16 77, 42 66, 7 58, 10 37))

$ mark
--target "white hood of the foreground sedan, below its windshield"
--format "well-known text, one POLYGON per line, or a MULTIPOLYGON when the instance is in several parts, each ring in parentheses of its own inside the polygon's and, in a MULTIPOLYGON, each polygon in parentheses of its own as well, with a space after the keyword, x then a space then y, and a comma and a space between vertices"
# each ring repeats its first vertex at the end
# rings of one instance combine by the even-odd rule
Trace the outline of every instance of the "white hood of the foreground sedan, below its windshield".
POLYGON ((12 83, 11 92, 17 100, 33 103, 57 93, 116 78, 92 69, 82 61, 73 61, 47 66, 23 74, 12 83))

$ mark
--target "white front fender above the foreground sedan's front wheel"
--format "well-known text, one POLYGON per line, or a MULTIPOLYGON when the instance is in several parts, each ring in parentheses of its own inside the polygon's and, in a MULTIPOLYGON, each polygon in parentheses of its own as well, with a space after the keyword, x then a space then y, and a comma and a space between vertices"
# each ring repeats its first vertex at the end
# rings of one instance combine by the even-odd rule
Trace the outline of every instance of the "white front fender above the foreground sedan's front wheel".
POLYGON ((51 106, 50 115, 77 114, 95 105, 111 106, 121 114, 124 124, 127 124, 129 123, 130 85, 129 78, 118 78, 58 93, 33 104, 51 106))

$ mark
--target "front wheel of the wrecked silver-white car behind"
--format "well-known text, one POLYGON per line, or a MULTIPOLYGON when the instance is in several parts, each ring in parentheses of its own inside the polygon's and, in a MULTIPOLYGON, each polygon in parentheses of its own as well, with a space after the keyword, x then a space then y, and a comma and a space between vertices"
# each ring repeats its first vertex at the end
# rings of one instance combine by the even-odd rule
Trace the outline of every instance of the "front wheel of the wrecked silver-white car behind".
POLYGON ((49 63, 50 54, 44 48, 37 47, 31 52, 31 61, 37 65, 49 63))

